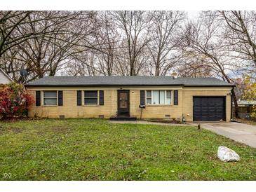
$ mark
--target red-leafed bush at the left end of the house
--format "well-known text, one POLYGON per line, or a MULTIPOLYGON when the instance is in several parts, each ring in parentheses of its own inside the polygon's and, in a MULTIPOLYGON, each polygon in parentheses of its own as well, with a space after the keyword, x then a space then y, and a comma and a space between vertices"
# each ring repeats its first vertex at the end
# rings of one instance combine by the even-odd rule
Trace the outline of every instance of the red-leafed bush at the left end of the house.
POLYGON ((27 115, 27 109, 34 102, 32 95, 23 85, 9 83, 0 90, 0 116, 3 118, 27 115))

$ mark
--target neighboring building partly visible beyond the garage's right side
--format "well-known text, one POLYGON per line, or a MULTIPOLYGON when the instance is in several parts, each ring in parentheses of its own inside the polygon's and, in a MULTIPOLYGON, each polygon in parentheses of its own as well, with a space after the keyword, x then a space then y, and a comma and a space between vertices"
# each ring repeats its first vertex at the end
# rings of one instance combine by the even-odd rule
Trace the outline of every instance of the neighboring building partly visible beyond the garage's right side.
MULTIPOLYGON (((256 101, 238 100, 238 116, 239 118, 246 118, 252 112, 252 106, 256 105, 256 101)), ((233 103, 233 116, 235 115, 235 105, 233 103)))

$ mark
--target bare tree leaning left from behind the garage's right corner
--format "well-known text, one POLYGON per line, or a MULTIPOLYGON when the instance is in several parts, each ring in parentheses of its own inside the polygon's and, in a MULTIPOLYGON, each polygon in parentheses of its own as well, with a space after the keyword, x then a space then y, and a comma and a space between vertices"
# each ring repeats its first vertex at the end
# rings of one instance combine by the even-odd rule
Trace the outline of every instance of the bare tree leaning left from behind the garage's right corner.
MULTIPOLYGON (((222 21, 217 20, 215 14, 202 13, 196 23, 190 22, 187 27, 187 51, 191 51, 204 60, 206 67, 210 67, 217 76, 224 81, 234 83, 229 76, 234 70, 232 60, 222 36, 222 21)), ((232 90, 233 100, 238 117, 236 93, 232 90)))

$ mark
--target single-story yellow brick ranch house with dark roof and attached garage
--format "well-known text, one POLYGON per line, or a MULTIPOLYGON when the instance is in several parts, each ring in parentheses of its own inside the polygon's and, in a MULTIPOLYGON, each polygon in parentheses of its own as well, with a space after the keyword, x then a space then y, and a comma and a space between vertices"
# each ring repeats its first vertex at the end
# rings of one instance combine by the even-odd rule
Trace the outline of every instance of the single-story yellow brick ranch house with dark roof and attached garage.
POLYGON ((234 85, 217 78, 48 76, 26 87, 36 100, 30 117, 140 118, 142 112, 142 118, 230 121, 234 85))

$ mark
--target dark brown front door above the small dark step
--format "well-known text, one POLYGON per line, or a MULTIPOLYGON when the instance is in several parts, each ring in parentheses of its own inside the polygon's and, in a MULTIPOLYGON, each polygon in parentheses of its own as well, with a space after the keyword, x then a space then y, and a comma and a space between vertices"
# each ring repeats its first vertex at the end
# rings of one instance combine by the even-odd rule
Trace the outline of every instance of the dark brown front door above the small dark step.
POLYGON ((117 103, 118 116, 130 116, 129 90, 117 90, 117 103))

